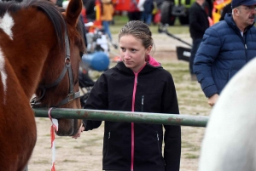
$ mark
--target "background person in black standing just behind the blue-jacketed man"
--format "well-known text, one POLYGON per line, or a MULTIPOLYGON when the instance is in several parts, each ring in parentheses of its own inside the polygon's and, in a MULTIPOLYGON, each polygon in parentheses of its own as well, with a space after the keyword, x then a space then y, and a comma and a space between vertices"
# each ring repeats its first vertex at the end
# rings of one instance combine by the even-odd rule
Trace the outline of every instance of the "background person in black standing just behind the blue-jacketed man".
POLYGON ((189 58, 189 71, 191 80, 196 81, 196 76, 193 71, 193 63, 196 51, 201 43, 201 39, 209 27, 208 14, 205 10, 205 0, 196 0, 189 9, 189 32, 192 38, 192 48, 189 58))

